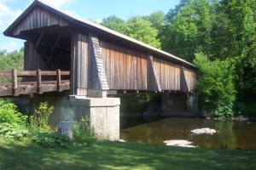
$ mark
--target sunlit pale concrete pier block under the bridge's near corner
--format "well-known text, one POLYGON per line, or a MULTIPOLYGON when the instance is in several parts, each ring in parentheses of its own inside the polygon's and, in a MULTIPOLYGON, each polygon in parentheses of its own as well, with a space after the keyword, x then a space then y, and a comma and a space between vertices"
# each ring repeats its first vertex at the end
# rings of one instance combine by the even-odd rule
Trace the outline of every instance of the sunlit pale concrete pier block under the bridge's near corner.
POLYGON ((69 96, 70 105, 85 107, 97 137, 119 140, 119 98, 69 96))

